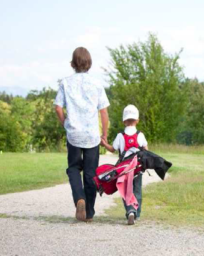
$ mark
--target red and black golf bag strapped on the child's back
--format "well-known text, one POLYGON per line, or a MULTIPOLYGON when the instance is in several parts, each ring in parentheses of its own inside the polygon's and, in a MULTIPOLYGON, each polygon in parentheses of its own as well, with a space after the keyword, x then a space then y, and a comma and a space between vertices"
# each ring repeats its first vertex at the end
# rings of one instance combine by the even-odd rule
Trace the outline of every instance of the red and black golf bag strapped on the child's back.
POLYGON ((124 152, 119 157, 119 161, 115 165, 103 164, 96 169, 96 176, 93 177, 93 181, 100 195, 102 195, 103 192, 108 195, 115 193, 117 191, 116 182, 118 177, 126 175, 128 172, 134 172, 134 177, 136 177, 147 169, 154 169, 157 175, 164 180, 165 174, 172 166, 172 163, 151 151, 139 147, 137 143, 138 134, 139 131, 137 131, 134 136, 127 136, 123 133, 126 146, 124 152), (136 147, 139 151, 124 159, 126 151, 131 147, 136 147), (137 156, 137 164, 129 169, 128 167, 132 159, 134 159, 134 156, 137 156))

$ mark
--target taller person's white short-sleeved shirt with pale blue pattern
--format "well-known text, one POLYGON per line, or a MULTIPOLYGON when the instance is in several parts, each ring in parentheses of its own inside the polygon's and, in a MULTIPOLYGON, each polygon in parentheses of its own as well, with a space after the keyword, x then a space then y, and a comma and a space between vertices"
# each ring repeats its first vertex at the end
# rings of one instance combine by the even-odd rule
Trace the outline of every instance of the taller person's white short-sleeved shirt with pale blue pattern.
POLYGON ((71 145, 90 149, 100 144, 98 110, 110 105, 101 81, 88 73, 62 79, 54 105, 66 107, 64 127, 71 145))

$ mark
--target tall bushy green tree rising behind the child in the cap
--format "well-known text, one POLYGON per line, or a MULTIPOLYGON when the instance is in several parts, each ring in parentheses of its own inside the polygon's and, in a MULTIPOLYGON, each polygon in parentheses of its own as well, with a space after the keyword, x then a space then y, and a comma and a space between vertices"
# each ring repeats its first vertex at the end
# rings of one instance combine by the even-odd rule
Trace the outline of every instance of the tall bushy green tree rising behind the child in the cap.
POLYGON ((185 112, 184 75, 174 56, 164 52, 155 35, 149 34, 144 43, 108 48, 111 69, 108 74, 111 100, 110 136, 124 129, 121 115, 126 105, 133 104, 140 112, 139 129, 148 141, 175 141, 176 128, 185 112))

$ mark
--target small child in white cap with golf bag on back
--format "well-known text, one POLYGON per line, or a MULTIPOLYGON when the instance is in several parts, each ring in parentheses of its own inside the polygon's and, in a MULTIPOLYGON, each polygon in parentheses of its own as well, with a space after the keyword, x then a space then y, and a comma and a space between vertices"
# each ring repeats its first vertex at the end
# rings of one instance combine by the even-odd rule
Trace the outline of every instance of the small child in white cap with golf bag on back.
MULTIPOLYGON (((118 133, 115 140, 113 141, 113 146, 107 144, 103 138, 101 138, 101 145, 105 146, 105 148, 111 152, 119 150, 119 155, 126 151, 124 152, 124 157, 127 157, 132 153, 136 153, 136 151, 139 151, 138 146, 148 150, 147 140, 144 137, 144 134, 136 130, 136 125, 139 123, 139 111, 134 105, 128 105, 124 108, 123 122, 126 126, 124 134, 118 133), (129 148, 130 146, 127 147, 126 144, 131 145, 131 143, 133 146, 131 148, 129 148)), ((133 187, 134 195, 139 203, 139 208, 137 209, 137 211, 134 209, 133 206, 126 206, 125 200, 123 200, 124 207, 126 208, 126 218, 129 225, 133 225, 135 223, 135 219, 139 220, 139 216, 141 213, 142 175, 134 178, 133 187)))

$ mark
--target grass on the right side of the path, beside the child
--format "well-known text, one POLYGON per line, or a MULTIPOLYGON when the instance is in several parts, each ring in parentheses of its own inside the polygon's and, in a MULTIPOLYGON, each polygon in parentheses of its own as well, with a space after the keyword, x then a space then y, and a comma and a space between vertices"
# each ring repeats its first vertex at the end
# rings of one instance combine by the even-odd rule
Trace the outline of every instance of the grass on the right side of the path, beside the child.
MULTIPOLYGON (((158 153, 158 152, 157 152, 158 153)), ((204 157, 199 154, 162 154, 174 167, 164 182, 153 183, 143 190, 142 221, 176 226, 204 226, 204 157)), ((120 199, 107 213, 113 218, 124 216, 120 199)))

